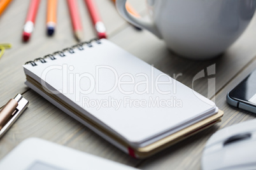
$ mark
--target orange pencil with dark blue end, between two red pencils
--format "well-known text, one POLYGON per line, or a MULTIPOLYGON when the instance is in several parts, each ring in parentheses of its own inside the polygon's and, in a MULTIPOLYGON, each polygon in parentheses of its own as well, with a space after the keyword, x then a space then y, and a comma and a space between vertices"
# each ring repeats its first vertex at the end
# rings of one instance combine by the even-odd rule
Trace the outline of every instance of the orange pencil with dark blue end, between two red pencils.
POLYGON ((47 20, 46 29, 48 36, 52 36, 56 27, 57 0, 47 1, 47 20))

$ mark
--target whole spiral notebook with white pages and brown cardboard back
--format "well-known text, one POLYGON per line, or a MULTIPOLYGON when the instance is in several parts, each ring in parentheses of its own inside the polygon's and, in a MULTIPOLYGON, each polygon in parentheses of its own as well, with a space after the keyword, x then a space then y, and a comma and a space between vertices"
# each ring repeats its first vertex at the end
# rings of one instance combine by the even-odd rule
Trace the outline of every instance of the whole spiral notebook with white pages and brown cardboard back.
POLYGON ((106 39, 23 67, 27 86, 132 157, 155 154, 223 115, 211 100, 106 39))

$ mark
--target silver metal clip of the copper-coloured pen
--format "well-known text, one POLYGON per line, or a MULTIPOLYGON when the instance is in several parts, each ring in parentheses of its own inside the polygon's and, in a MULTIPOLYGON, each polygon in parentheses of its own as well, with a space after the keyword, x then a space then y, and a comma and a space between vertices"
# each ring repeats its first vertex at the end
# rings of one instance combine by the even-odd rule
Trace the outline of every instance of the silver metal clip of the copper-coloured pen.
MULTIPOLYGON (((27 101, 20 94, 16 95, 14 100, 16 100, 18 102, 18 105, 16 108, 14 108, 14 110, 10 110, 10 111, 12 111, 12 115, 10 116, 10 119, 8 119, 8 121, 4 124, 3 128, 0 130, 0 138, 3 136, 4 133, 6 133, 6 131, 8 131, 8 129, 18 119, 18 117, 24 112, 24 110, 27 108, 27 105, 29 104, 29 101, 27 101)), ((7 106, 7 104, 4 107, 6 107, 6 106, 7 106)))

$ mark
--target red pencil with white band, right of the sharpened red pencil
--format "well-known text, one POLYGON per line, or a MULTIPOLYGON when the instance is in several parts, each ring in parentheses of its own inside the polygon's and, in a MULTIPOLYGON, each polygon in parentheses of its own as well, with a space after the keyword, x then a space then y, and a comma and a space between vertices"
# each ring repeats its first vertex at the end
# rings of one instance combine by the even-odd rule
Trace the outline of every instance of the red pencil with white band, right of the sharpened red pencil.
POLYGON ((99 16, 99 11, 97 11, 94 0, 85 0, 85 3, 87 4, 90 17, 92 18, 92 22, 94 23, 94 27, 97 31, 97 36, 99 39, 106 38, 106 27, 101 21, 101 16, 99 16))

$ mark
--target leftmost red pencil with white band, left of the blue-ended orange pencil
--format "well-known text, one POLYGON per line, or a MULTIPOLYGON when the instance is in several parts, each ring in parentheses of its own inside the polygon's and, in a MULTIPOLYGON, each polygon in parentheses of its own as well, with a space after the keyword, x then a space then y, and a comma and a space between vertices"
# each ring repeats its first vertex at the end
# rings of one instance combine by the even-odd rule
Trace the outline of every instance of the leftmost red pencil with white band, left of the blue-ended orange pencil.
POLYGON ((23 40, 28 41, 31 33, 34 29, 34 22, 36 20, 36 14, 38 13, 38 6, 40 0, 31 0, 29 4, 29 11, 27 12, 27 18, 25 20, 24 30, 23 30, 23 40))

